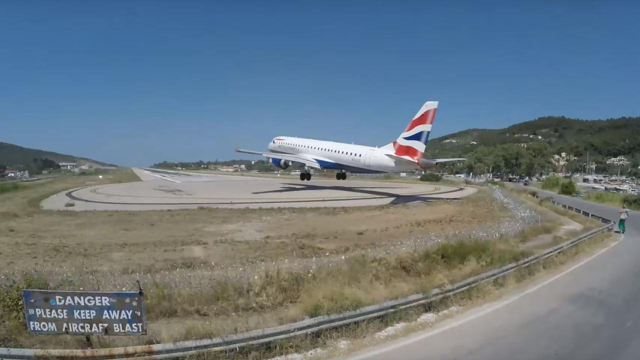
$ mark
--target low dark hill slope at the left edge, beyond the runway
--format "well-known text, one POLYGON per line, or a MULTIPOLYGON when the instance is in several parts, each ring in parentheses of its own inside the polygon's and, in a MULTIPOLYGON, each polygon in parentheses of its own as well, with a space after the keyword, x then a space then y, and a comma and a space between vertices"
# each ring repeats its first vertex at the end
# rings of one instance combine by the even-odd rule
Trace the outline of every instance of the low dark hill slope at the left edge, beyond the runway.
POLYGON ((79 158, 78 156, 58 154, 58 152, 52 151, 29 149, 28 147, 13 145, 12 143, 0 142, 0 164, 7 165, 8 167, 26 165, 31 163, 34 158, 47 158, 56 161, 56 163, 77 163, 79 166, 116 166, 103 163, 102 161, 79 158))

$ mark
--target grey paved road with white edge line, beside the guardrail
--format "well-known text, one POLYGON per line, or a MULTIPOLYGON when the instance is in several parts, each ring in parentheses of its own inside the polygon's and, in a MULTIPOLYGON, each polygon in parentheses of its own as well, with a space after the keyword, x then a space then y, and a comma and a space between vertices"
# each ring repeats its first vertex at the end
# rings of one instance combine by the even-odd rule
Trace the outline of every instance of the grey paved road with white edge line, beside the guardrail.
MULTIPOLYGON (((616 209, 554 195, 617 219, 616 209)), ((640 217, 599 255, 497 304, 349 359, 640 359, 640 217)))

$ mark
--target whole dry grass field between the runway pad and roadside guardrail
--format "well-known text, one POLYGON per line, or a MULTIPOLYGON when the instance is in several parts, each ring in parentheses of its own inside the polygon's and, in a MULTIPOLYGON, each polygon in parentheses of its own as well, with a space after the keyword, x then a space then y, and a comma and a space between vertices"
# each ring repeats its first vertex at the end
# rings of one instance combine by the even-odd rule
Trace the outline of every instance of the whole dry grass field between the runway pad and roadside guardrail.
POLYGON ((24 330, 19 289, 145 287, 148 336, 97 337, 97 347, 203 338, 354 309, 427 291, 532 253, 527 236, 468 241, 508 219, 488 188, 463 200, 362 208, 44 211, 67 188, 133 181, 70 176, 0 195, 0 346, 83 347, 24 330), (449 242, 406 249, 422 236, 449 242))

